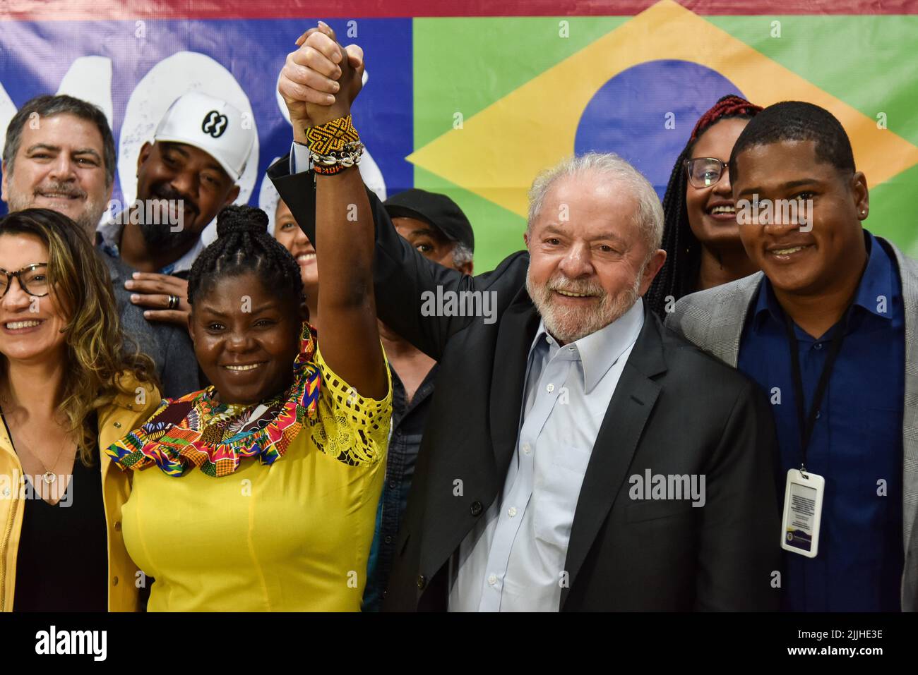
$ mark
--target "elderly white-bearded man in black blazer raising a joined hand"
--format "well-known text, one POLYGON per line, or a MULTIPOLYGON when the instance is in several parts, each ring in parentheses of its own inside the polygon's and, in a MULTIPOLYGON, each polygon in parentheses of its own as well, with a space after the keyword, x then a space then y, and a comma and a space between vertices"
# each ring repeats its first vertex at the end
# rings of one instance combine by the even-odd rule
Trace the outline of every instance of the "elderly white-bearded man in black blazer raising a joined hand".
POLYGON ((442 268, 336 166, 360 152, 362 50, 324 25, 297 44, 278 85, 294 146, 269 175, 310 240, 317 218, 374 228, 377 314, 441 367, 383 609, 777 608, 774 423, 644 307, 666 260, 650 183, 615 155, 564 160, 532 186, 526 251, 442 268), (313 128, 316 105, 335 122, 313 128), (497 320, 422 313, 438 290, 494 293, 497 320))

